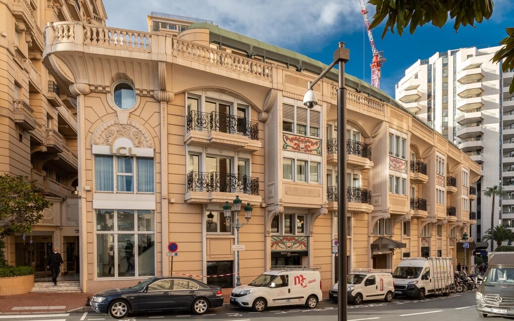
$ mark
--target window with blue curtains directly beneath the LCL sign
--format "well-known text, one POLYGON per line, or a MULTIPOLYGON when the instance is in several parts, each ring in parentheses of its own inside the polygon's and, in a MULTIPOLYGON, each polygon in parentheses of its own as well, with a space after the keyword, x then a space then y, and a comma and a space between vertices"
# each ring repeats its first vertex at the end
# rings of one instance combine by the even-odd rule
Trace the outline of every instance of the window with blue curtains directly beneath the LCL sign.
POLYGON ((97 191, 153 193, 154 179, 151 157, 95 155, 97 191))

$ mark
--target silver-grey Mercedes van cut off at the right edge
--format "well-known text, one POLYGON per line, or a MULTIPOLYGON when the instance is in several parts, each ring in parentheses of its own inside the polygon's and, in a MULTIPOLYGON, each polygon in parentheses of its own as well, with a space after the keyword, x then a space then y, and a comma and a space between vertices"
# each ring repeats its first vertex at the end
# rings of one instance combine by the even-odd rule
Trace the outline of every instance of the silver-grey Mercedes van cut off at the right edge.
POLYGON ((475 293, 479 316, 514 316, 514 252, 491 252, 484 281, 475 293))

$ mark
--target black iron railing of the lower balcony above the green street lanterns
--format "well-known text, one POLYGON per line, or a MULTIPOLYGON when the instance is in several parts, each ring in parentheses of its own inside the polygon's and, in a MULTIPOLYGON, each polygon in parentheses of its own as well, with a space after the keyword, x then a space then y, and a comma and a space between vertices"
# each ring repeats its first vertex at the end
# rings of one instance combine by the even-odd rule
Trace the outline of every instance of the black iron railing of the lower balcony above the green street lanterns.
POLYGON ((259 195, 259 177, 220 172, 189 172, 187 189, 188 192, 238 192, 259 195))

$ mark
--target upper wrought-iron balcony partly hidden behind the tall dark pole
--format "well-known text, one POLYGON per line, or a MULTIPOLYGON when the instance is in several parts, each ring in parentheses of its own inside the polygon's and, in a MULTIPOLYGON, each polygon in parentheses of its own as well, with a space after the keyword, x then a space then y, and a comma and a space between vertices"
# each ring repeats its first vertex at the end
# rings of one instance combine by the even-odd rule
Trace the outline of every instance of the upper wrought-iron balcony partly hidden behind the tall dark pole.
MULTIPOLYGON (((326 143, 327 164, 337 165, 337 138, 328 139, 326 143)), ((348 168, 353 169, 371 169, 373 162, 371 161, 371 147, 368 144, 346 139, 346 154, 348 168)))

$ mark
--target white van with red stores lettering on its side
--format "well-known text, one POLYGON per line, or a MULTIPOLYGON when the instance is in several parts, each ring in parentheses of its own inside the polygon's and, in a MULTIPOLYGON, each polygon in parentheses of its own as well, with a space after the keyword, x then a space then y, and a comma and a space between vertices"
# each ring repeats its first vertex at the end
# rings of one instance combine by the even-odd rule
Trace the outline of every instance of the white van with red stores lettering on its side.
POLYGON ((230 304, 255 312, 299 304, 314 309, 323 296, 318 270, 319 267, 271 267, 249 285, 234 288, 230 304))

